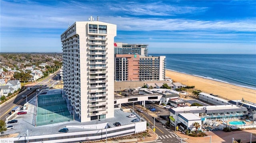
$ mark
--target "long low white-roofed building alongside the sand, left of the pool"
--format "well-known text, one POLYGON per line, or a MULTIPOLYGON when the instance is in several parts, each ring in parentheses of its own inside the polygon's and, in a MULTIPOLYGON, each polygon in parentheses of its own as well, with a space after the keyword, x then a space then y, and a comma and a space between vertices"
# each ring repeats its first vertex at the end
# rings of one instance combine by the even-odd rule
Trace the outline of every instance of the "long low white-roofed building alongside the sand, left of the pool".
POLYGON ((228 100, 225 100, 225 99, 222 99, 217 96, 210 95, 210 94, 207 94, 204 92, 199 93, 199 99, 206 101, 208 103, 214 104, 214 105, 230 105, 228 100))

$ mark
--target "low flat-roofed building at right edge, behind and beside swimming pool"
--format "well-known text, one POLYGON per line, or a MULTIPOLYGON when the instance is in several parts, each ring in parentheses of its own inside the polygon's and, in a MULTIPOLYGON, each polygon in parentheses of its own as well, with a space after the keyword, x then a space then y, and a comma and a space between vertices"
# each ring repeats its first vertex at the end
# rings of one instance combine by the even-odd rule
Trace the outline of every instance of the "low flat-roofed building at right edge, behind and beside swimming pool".
POLYGON ((247 108, 248 116, 246 116, 246 119, 249 121, 256 121, 256 103, 249 102, 246 100, 230 100, 228 102, 231 104, 235 104, 237 106, 247 108))

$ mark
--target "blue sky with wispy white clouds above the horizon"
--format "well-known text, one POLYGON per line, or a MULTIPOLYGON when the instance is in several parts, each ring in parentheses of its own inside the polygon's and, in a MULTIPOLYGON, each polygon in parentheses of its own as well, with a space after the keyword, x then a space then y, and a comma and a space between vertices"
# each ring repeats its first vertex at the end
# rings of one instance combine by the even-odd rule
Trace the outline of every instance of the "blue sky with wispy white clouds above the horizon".
POLYGON ((90 16, 117 25, 116 42, 149 53, 256 54, 256 1, 0 1, 1 52, 61 52, 60 35, 90 16))

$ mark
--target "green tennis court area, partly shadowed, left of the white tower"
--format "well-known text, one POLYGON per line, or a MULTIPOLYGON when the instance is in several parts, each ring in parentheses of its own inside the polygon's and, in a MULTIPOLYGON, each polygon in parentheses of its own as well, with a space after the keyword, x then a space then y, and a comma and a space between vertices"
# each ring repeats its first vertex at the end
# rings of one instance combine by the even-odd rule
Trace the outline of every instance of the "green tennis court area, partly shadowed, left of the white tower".
POLYGON ((38 96, 36 126, 73 120, 61 94, 38 96))

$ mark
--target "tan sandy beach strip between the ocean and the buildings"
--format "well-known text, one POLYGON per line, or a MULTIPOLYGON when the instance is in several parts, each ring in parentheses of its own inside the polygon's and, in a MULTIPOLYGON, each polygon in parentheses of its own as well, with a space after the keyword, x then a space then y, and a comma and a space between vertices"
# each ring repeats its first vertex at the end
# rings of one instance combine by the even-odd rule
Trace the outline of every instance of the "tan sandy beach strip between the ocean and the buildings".
POLYGON ((244 100, 256 103, 256 90, 234 86, 231 84, 217 82, 207 78, 201 78, 180 72, 166 70, 166 76, 170 77, 175 82, 180 82, 187 86, 195 86, 196 89, 202 92, 212 93, 222 96, 228 100, 244 100))

